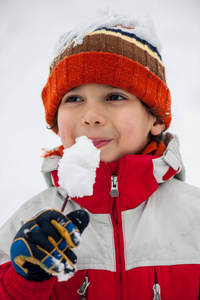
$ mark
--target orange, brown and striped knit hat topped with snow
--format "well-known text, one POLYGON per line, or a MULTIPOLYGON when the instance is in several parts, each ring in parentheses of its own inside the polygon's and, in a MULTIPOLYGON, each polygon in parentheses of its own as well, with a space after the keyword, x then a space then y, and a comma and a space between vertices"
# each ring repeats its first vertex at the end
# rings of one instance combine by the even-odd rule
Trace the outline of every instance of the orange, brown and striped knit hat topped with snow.
MULTIPOLYGON (((50 127, 55 123, 65 93, 79 85, 98 83, 134 94, 167 129, 171 97, 160 48, 152 21, 145 18, 107 15, 75 27, 62 37, 42 91, 46 122, 50 127)), ((53 130, 57 132, 56 127, 53 130)))

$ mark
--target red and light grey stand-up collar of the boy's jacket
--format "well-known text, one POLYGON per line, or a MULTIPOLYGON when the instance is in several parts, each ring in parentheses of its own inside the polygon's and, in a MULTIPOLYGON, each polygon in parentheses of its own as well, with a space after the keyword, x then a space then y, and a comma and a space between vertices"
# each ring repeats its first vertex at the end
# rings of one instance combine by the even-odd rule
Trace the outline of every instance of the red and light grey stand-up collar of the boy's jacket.
MULTIPOLYGON (((169 137, 169 134, 167 134, 169 137)), ((48 186, 53 186, 51 172, 58 168, 61 157, 50 156, 44 159, 42 172, 48 186)), ((166 151, 161 157, 152 155, 125 155, 118 162, 119 197, 123 198, 121 210, 134 208, 147 200, 158 188, 159 184, 173 177, 184 180, 185 172, 179 152, 179 142, 176 136, 170 135, 166 151)), ((74 198, 75 202, 94 213, 110 211, 108 196, 110 195, 112 172, 109 164, 100 162, 97 169, 94 193, 92 196, 74 198)), ((56 176, 54 176, 54 179, 56 176)), ((56 180, 55 180, 56 183, 56 180)), ((77 182, 78 184, 78 182, 77 182)), ((61 187, 60 193, 66 197, 67 192, 61 187)))

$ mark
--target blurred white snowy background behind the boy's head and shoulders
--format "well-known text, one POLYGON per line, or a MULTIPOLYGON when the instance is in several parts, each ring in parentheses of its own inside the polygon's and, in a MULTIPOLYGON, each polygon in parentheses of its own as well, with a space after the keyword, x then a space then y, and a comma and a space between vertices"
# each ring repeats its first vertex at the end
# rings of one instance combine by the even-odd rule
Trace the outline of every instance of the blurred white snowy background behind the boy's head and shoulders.
POLYGON ((40 96, 54 45, 106 6, 154 19, 173 101, 169 131, 180 138, 186 181, 200 187, 199 0, 0 0, 0 225, 46 188, 41 148, 60 145, 40 96))

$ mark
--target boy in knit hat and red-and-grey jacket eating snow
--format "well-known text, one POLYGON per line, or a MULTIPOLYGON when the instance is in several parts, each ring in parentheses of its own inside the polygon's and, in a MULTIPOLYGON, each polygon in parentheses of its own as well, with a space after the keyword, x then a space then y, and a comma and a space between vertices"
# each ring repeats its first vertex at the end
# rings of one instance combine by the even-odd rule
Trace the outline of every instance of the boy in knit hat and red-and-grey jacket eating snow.
POLYGON ((170 92, 144 23, 109 16, 63 37, 42 92, 62 146, 46 154, 49 189, 2 229, 2 238, 9 226, 15 236, 12 263, 0 269, 2 299, 199 299, 200 191, 181 181, 178 140, 162 134, 170 92), (69 199, 62 214, 58 161, 80 136, 101 150, 101 162, 93 195, 69 199))

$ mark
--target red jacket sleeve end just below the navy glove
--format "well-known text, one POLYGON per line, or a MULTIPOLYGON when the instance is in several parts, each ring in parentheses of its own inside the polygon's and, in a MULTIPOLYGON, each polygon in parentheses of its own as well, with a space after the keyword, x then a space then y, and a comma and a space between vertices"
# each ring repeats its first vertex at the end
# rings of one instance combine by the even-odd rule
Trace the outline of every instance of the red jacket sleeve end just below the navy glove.
POLYGON ((11 262, 0 266, 1 300, 56 300, 53 292, 56 277, 42 282, 28 281, 15 271, 11 262))

